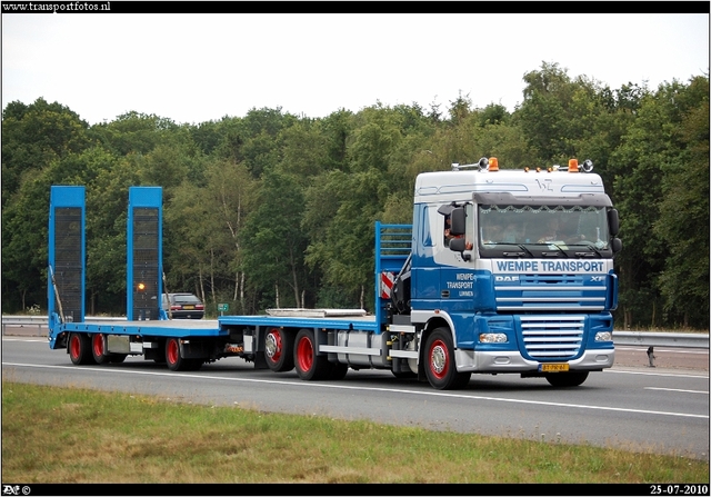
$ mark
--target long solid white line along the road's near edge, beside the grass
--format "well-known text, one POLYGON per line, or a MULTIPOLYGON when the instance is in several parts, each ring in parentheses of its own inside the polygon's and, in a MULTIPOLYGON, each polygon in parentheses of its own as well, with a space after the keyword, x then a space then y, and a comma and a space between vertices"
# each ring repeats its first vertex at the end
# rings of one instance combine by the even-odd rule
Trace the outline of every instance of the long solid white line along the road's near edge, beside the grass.
MULTIPOLYGON (((29 365, 29 364, 18 364, 18 362, 3 362, 2 366, 16 366, 16 367, 27 367, 27 368, 39 368, 39 369, 73 369, 76 366, 41 366, 41 365, 29 365)), ((450 394, 439 390, 432 391, 418 391, 418 390, 405 390, 401 388, 377 388, 377 387, 353 387, 348 385, 331 385, 331 384, 318 384, 311 381, 282 381, 282 380, 271 380, 271 379, 252 379, 252 378, 226 378, 221 376, 209 376, 209 375, 190 375, 190 374, 176 374, 176 372, 154 372, 154 371, 128 371, 124 369, 114 369, 108 370, 106 368, 93 368, 93 367, 82 367, 82 371, 97 371, 97 372, 109 372, 109 374, 128 374, 128 375, 148 375, 148 376, 164 376, 168 378, 174 379, 183 379, 183 378, 201 378, 201 379, 216 379, 220 381, 236 381, 236 382, 253 382, 253 384, 270 384, 270 385, 284 385, 289 387, 306 387, 306 388, 333 388, 340 390, 361 390, 361 391, 384 391, 389 394, 408 394, 408 395, 419 395, 427 397, 449 397, 449 398, 460 398, 468 400, 492 400, 495 402, 509 402, 509 404, 528 404, 535 406, 552 406, 552 407, 570 407, 575 409, 590 409, 590 410, 611 410, 617 412, 637 412, 637 414, 649 414, 649 415, 660 415, 660 416, 675 416, 682 418, 700 418, 700 419, 709 419, 709 415, 694 415, 688 412, 669 412, 662 410, 645 410, 645 409, 629 409, 622 407, 603 407, 603 406, 587 406, 583 404, 563 404, 563 402, 547 402, 541 400, 523 400, 523 399, 510 399, 510 398, 500 398, 500 397, 488 397, 480 395, 465 395, 465 394, 450 394)))

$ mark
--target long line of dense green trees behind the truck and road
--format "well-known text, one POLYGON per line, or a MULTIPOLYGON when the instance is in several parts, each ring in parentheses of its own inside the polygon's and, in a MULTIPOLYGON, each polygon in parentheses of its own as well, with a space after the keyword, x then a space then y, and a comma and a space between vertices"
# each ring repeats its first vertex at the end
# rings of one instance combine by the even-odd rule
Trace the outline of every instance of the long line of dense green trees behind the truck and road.
POLYGON ((709 76, 611 89, 543 62, 513 111, 418 103, 326 118, 251 109, 89 126, 38 98, 2 111, 2 311, 47 306, 51 185, 87 191, 87 311, 126 314, 128 188, 163 191, 170 291, 231 314, 373 306, 373 225, 411 222, 414 178, 591 159, 620 212, 618 328, 709 327, 709 76))

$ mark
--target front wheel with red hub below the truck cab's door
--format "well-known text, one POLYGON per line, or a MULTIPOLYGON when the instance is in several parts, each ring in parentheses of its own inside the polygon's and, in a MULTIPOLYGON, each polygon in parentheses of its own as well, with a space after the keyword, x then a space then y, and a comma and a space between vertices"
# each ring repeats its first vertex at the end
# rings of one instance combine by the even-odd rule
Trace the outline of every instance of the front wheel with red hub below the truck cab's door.
POLYGON ((463 388, 471 372, 458 372, 454 364, 454 346, 447 328, 437 328, 427 339, 424 372, 438 390, 463 388))

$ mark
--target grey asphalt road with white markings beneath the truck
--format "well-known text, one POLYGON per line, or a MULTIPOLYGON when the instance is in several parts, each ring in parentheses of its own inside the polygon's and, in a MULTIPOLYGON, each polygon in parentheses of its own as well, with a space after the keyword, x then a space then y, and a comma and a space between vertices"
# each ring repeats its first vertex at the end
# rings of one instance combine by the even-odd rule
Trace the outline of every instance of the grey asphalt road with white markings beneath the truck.
POLYGON ((141 356, 119 365, 76 367, 63 350, 50 350, 46 339, 4 336, 2 377, 709 460, 708 349, 655 349, 654 368, 645 350, 618 348, 615 366, 591 374, 578 388, 552 388, 544 379, 518 375, 473 375, 462 390, 439 391, 383 370, 349 370, 341 381, 302 381, 294 371, 256 370, 237 358, 194 372, 169 371, 141 356))

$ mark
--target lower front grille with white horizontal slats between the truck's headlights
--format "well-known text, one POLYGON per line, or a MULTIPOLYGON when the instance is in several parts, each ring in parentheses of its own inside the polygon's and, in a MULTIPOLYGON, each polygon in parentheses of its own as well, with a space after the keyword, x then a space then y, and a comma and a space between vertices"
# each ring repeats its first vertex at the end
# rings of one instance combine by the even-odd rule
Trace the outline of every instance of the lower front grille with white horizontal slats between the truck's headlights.
POLYGON ((521 316, 523 346, 534 359, 575 357, 584 327, 584 316, 521 316))

